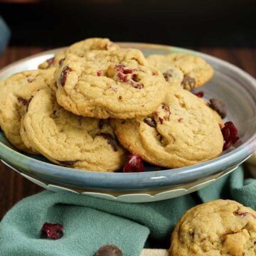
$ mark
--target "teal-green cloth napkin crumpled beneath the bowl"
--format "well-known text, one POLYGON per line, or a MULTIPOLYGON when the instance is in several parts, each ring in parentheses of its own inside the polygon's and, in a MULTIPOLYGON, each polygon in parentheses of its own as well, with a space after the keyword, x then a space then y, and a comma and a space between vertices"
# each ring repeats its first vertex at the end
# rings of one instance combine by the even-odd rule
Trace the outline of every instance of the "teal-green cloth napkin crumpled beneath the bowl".
POLYGON ((125 256, 137 256, 145 246, 169 247, 178 218, 196 204, 217 198, 256 209, 256 179, 245 180, 239 168, 201 191, 154 203, 44 191, 23 199, 3 218, 0 255, 93 256, 101 245, 114 244, 125 256), (45 222, 62 223, 63 238, 41 238, 45 222))

